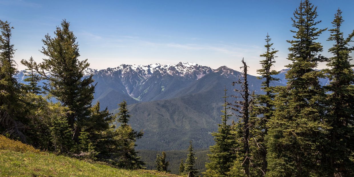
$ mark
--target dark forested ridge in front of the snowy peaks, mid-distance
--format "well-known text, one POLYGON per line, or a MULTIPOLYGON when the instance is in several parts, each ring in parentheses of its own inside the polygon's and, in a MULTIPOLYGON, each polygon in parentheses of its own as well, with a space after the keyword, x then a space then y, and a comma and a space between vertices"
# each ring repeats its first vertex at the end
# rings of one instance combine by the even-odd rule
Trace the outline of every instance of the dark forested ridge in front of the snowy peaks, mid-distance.
MULTIPOLYGON (((218 71, 206 74, 178 92, 179 97, 176 98, 130 105, 130 124, 135 130, 144 132, 143 138, 137 141, 138 148, 185 150, 191 140, 196 149, 213 145, 211 132, 217 130, 221 119, 224 86, 228 89, 228 95, 235 94, 233 89, 238 88, 231 83, 238 80, 239 72, 229 70, 228 73, 218 71)), ((251 92, 261 90, 261 80, 250 75, 249 81, 252 83, 251 92)), ((231 100, 228 98, 228 101, 231 100)), ((236 117, 231 117, 229 121, 233 119, 236 117)))

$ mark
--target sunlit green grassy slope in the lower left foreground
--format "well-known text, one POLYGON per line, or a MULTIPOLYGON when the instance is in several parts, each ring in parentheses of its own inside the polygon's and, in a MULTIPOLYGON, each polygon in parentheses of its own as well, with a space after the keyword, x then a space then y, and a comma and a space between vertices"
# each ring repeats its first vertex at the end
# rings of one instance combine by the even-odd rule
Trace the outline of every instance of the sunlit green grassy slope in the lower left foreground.
POLYGON ((153 170, 116 169, 104 164, 44 153, 0 137, 0 176, 178 177, 153 170))

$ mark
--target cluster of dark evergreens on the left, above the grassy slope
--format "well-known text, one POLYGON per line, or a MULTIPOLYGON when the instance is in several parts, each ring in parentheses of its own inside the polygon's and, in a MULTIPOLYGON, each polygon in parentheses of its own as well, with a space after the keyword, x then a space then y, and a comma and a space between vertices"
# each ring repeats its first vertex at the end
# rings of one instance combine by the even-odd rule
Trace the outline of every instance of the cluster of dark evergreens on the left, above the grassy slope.
POLYGON ((0 21, 0 131, 35 148, 77 158, 104 161, 118 167, 141 169, 144 162, 135 152, 135 142, 143 136, 128 124, 125 101, 120 112, 110 114, 99 102, 92 105, 95 84, 84 77, 87 59, 79 61, 79 45, 63 20, 54 37, 45 35, 41 63, 31 57, 27 66, 28 85, 17 82, 15 53, 10 23, 0 21), (44 86, 38 82, 46 80, 44 86), (56 100, 56 103, 50 100, 56 100), (116 127, 116 122, 120 125, 116 127))

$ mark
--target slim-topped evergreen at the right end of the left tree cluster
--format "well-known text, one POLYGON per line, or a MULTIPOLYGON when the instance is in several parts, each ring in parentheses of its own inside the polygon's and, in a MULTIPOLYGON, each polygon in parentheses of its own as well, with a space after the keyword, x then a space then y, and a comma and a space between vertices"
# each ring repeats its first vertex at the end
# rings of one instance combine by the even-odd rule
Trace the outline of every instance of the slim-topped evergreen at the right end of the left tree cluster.
POLYGON ((116 165, 129 169, 142 169, 145 163, 141 161, 141 157, 138 156, 138 152, 135 151, 135 142, 137 139, 143 136, 143 132, 136 132, 128 125, 128 121, 131 115, 128 113, 127 102, 123 101, 119 105, 119 110, 121 110, 118 115, 118 122, 121 125, 118 127, 118 141, 119 147, 118 151, 120 156, 115 159, 116 165))

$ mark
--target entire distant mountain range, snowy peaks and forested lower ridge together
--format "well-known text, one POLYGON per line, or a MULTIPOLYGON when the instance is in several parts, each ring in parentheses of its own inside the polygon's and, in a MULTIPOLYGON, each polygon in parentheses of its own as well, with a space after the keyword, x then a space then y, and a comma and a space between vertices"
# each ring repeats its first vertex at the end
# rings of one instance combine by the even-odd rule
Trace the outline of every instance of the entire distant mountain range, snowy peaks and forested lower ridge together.
MULTIPOLYGON (((285 73, 276 75, 286 84, 285 73)), ((213 144, 211 132, 217 130, 223 104, 224 87, 234 95, 232 86, 240 72, 226 66, 212 69, 196 63, 126 65, 102 70, 87 69, 97 82, 93 103, 117 113, 117 104, 125 99, 132 114, 131 125, 143 130, 138 149, 183 150, 188 141, 195 148, 209 148, 213 144)), ((23 82, 25 76, 17 77, 23 82)), ((249 75, 250 91, 261 91, 261 80, 249 75)), ((328 81, 323 81, 328 82, 328 81)), ((232 98, 228 98, 232 101, 232 98)), ((235 119, 235 118, 233 118, 235 119)))

